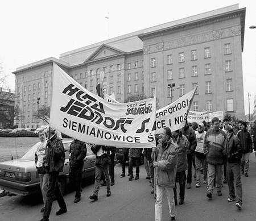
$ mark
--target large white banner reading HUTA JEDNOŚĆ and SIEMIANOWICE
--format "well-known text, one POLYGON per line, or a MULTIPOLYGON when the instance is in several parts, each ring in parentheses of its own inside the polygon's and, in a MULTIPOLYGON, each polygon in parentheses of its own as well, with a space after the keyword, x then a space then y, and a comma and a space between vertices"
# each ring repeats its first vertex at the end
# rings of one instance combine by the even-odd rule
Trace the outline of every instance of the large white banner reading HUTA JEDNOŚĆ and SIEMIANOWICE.
POLYGON ((155 98, 110 103, 53 64, 51 127, 92 144, 155 147, 155 98))

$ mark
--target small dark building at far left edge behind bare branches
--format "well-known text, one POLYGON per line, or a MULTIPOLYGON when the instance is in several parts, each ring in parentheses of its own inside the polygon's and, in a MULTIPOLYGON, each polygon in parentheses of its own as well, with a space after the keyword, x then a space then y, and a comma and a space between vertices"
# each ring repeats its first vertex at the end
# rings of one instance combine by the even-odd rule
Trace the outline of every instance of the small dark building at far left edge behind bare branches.
POLYGON ((0 128, 13 127, 14 123, 14 93, 3 91, 0 87, 0 128))

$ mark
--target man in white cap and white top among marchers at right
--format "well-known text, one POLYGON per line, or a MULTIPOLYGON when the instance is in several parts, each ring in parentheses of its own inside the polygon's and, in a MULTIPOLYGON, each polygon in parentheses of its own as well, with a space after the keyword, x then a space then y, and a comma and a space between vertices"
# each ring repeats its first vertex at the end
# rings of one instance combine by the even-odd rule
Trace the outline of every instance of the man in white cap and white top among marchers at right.
POLYGON ((197 145, 195 149, 195 163, 196 163, 196 187, 201 186, 201 165, 203 165, 204 184, 207 184, 207 162, 204 155, 204 137, 207 133, 204 131, 204 123, 200 122, 198 130, 195 131, 197 145))

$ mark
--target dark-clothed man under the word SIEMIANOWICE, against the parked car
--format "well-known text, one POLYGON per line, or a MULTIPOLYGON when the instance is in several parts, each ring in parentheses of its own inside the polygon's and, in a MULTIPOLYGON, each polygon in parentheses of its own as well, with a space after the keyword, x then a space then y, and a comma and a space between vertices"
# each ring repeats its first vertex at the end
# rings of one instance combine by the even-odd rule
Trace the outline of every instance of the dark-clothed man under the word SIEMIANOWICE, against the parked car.
POLYGON ((81 200, 81 184, 82 184, 82 167, 86 157, 86 144, 80 140, 74 139, 69 147, 69 166, 70 181, 75 187, 76 195, 74 203, 81 200))

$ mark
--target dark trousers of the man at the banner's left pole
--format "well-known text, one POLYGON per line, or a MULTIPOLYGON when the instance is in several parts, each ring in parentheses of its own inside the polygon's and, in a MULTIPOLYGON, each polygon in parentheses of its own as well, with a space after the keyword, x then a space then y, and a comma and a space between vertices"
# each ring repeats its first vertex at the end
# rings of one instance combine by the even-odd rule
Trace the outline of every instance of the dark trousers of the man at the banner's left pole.
POLYGON ((55 197, 61 209, 67 208, 57 182, 58 176, 59 176, 59 172, 49 173, 49 184, 48 184, 48 190, 46 193, 46 197, 47 197, 46 206, 43 214, 44 219, 47 219, 47 220, 49 219, 49 214, 51 213, 51 209, 52 209, 52 202, 55 199, 55 197))

